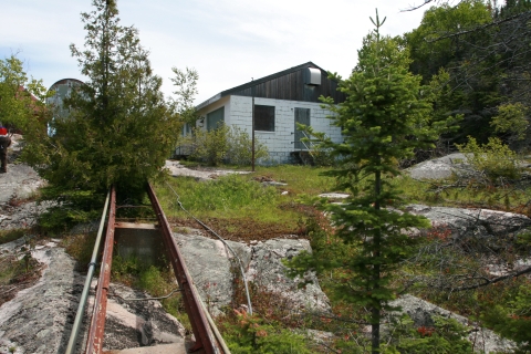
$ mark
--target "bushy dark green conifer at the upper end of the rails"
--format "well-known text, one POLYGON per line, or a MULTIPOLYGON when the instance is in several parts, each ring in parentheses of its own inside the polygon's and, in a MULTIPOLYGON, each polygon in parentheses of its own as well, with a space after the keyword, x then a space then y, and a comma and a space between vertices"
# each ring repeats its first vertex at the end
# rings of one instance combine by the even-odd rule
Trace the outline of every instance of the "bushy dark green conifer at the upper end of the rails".
POLYGON ((71 115, 55 119, 41 174, 65 190, 103 191, 116 184, 132 196, 174 148, 180 122, 166 103, 138 31, 119 24, 115 0, 93 0, 82 13, 85 45, 71 45, 84 85, 64 100, 71 115))

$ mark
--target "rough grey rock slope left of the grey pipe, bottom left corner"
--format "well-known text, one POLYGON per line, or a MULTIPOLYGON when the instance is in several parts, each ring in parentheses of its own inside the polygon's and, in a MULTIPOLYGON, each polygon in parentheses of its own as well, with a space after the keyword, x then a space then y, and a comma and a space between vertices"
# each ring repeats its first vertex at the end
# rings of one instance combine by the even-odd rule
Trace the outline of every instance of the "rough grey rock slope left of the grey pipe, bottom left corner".
POLYGON ((83 277, 63 249, 48 244, 32 252, 45 269, 39 282, 0 306, 0 352, 62 353, 70 335, 83 277), (3 351, 2 351, 3 350, 3 351))

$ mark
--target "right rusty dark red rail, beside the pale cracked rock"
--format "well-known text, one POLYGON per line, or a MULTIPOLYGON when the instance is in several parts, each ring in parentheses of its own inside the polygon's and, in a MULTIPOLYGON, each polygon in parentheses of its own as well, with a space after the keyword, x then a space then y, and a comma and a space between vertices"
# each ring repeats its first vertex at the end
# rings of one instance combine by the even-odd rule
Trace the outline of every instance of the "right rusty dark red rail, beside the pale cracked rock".
POLYGON ((175 239, 171 236, 171 229, 169 227, 166 215, 158 202, 157 196, 150 184, 147 186, 147 192, 152 206, 157 214, 158 223, 163 232, 164 243, 168 250, 171 267, 174 268, 175 277, 179 283, 179 288, 183 292, 183 300, 185 303, 185 310, 191 323, 191 329, 196 337, 196 344, 190 352, 202 350, 206 354, 223 353, 221 345, 216 340, 216 336, 210 329, 207 321, 207 316, 202 311, 201 300, 197 293, 191 277, 186 268, 185 259, 180 253, 175 239))

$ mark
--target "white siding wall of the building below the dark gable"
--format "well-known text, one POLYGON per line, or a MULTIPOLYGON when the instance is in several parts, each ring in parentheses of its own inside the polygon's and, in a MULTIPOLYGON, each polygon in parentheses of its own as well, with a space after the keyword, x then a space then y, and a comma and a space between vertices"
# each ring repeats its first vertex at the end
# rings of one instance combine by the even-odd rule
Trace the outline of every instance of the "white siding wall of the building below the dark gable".
MULTIPOLYGON (((223 97, 225 98, 225 97, 223 97)), ((294 108, 310 108, 311 126, 316 132, 324 132, 334 142, 341 142, 341 129, 331 126, 331 121, 326 118, 330 111, 321 108, 319 103, 285 101, 272 98, 254 98, 256 105, 274 106, 274 132, 256 132, 254 136, 258 140, 266 144, 269 155, 274 163, 292 163, 290 153, 294 152, 294 132, 295 132, 295 113, 294 108)), ((207 106, 201 110, 200 115, 206 115, 219 108, 222 104, 207 106)), ((225 123, 231 126, 238 126, 251 135, 252 129, 252 97, 230 96, 225 102, 225 123)), ((259 162, 268 163, 268 162, 259 162)))

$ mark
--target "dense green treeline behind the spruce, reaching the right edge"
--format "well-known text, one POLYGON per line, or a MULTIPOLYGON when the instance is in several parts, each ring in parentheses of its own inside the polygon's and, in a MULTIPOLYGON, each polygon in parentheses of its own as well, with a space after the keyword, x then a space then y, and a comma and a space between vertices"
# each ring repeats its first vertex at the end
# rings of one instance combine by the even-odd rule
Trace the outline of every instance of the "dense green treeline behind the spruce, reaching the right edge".
MULTIPOLYGON (((418 10, 417 10, 418 11, 418 10)), ((446 148, 499 137, 525 152, 531 88, 531 1, 466 0, 428 9, 420 25, 402 38, 410 71, 439 83, 439 116, 460 115, 460 128, 442 136, 446 148)))

